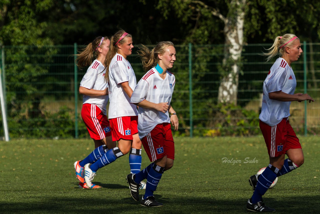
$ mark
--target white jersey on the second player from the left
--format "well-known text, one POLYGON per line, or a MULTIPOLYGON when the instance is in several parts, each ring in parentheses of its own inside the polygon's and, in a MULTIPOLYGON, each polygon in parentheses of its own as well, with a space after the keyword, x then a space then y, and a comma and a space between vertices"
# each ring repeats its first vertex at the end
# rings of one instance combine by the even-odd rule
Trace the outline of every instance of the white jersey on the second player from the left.
POLYGON ((137 85, 131 64, 123 56, 116 54, 109 66, 109 119, 138 115, 137 106, 130 103, 130 98, 121 87, 123 82, 129 82, 132 90, 137 85))

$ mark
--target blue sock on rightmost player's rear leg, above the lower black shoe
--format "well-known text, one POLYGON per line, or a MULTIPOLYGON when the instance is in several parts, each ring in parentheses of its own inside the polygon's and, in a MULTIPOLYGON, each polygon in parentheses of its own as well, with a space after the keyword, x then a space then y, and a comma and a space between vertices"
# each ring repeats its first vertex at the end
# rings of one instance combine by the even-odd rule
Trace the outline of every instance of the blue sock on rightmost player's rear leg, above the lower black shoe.
POLYGON ((259 176, 258 184, 251 197, 252 203, 261 201, 262 195, 267 192, 269 186, 274 182, 277 177, 279 169, 269 164, 268 167, 259 176))

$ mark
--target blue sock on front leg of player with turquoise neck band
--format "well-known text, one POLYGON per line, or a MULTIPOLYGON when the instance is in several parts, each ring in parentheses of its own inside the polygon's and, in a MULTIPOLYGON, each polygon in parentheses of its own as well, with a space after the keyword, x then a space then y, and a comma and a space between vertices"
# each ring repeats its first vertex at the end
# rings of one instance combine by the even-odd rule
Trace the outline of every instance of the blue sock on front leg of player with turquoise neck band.
POLYGON ((150 167, 150 171, 147 177, 146 192, 144 193, 143 198, 147 198, 153 195, 153 192, 156 191, 163 172, 164 167, 159 167, 156 164, 153 165, 153 167, 150 167))

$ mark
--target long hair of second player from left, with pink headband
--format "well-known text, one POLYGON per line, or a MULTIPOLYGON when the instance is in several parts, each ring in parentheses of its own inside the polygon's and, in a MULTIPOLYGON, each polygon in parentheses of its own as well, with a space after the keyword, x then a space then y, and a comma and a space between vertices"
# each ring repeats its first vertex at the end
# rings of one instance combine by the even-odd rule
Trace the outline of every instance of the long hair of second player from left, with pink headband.
POLYGON ((125 38, 127 37, 132 38, 130 34, 126 34, 124 37, 122 37, 125 33, 126 32, 124 30, 120 29, 110 39, 110 48, 107 53, 106 60, 104 61, 105 69, 106 69, 106 75, 104 75, 104 79, 106 82, 109 81, 109 66, 110 66, 111 60, 118 51, 117 44, 123 44, 126 41, 125 38))

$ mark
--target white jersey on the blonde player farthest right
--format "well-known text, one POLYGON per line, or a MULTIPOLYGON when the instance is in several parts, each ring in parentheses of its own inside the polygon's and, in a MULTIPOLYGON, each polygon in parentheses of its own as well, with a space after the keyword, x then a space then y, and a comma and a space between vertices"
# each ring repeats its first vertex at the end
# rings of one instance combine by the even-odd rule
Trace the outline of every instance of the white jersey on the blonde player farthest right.
POLYGON ((269 99, 269 93, 283 91, 287 94, 294 94, 296 86, 296 77, 292 68, 283 58, 278 58, 263 82, 262 108, 259 119, 274 126, 280 123, 283 118, 290 116, 291 102, 269 99))

